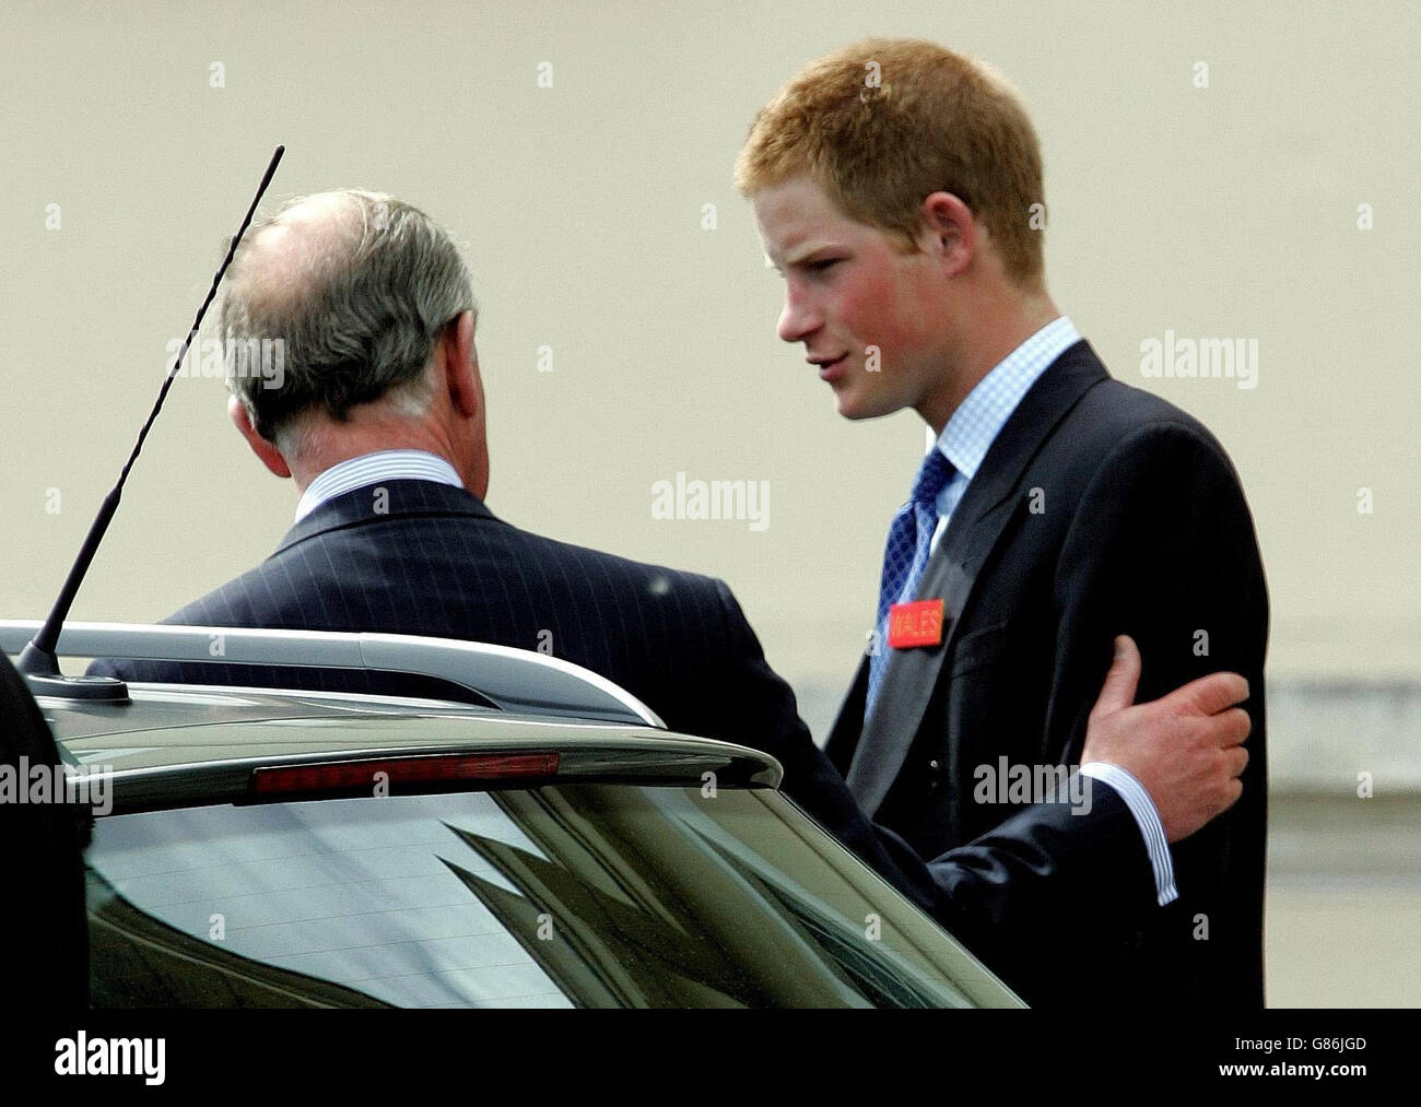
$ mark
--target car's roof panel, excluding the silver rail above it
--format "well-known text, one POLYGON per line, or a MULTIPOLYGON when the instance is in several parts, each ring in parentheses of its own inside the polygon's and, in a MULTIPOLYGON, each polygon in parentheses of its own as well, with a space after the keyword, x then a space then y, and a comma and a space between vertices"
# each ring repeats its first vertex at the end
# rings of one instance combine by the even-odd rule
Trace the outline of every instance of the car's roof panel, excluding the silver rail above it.
POLYGON ((777 789, 759 750, 672 730, 514 713, 432 699, 131 684, 126 703, 37 696, 75 782, 102 774, 118 810, 217 803, 253 770, 455 753, 558 755, 556 777, 777 789))

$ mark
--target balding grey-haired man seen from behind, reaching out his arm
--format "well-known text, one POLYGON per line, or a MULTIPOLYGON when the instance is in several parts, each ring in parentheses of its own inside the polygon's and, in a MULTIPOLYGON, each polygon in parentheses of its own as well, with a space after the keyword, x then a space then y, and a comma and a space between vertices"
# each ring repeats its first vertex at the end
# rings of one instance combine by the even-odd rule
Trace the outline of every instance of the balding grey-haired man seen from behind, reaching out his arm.
MULTIPOLYGON (((1043 912, 1111 888, 1154 909, 1145 843, 1108 786, 1088 814, 1043 804, 924 864, 855 807, 810 742, 718 580, 519 530, 483 503, 485 396, 469 276, 449 237, 389 196, 334 192, 260 222, 230 273, 227 342, 283 341, 283 371, 232 379, 233 422, 300 492, 296 523, 260 566, 169 621, 382 631, 534 649, 621 684, 671 728, 766 750, 784 790, 868 864, 979 945, 1029 941, 1043 912), (271 387, 273 384, 279 387, 271 387)), ((99 662, 128 679, 415 691, 405 678, 99 662)), ((1246 689, 1221 674, 1131 708, 1123 649, 1084 757, 1124 766, 1184 837, 1238 796, 1246 689)))

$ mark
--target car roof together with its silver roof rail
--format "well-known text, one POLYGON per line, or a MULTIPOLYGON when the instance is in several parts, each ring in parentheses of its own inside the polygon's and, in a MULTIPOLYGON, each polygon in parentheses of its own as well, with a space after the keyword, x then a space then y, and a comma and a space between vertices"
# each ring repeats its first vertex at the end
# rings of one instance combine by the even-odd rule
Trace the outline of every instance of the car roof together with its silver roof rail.
MULTIPOLYGON (((0 620, 14 649, 37 624, 0 620)), ((779 787, 772 756, 666 730, 611 681, 557 658, 480 642, 230 627, 65 624, 68 657, 367 669, 435 676, 486 701, 229 685, 31 676, 75 777, 114 782, 136 810, 250 797, 257 770, 449 755, 539 753, 549 779, 632 779, 779 787), (213 644, 220 644, 215 649, 213 644)), ((271 666, 276 668, 271 668, 271 666)), ((293 678, 298 679, 298 678, 293 678)), ((489 777, 492 779, 492 777, 489 777)), ((97 782, 91 782, 97 783, 97 782)))

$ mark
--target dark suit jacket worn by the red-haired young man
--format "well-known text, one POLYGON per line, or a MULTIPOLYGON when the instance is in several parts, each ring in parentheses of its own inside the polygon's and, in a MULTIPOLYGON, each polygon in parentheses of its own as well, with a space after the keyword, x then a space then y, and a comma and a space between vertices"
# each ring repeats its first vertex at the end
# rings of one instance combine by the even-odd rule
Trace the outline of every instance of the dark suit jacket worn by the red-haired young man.
POLYGON ((968 485, 918 590, 931 597, 944 598, 942 644, 891 651, 867 725, 865 658, 826 745, 865 813, 922 857, 1017 810, 980 801, 999 797, 988 784, 1000 757, 1079 760, 1114 635, 1140 645, 1141 702, 1219 669, 1248 678, 1243 796, 1172 847, 1179 898, 1124 935, 1096 932, 1098 911, 1073 904, 1053 941, 995 963, 1043 1005, 1081 1002, 1070 965, 1088 955, 1091 1002, 1260 1006, 1268 597, 1214 436, 1074 344, 968 485))

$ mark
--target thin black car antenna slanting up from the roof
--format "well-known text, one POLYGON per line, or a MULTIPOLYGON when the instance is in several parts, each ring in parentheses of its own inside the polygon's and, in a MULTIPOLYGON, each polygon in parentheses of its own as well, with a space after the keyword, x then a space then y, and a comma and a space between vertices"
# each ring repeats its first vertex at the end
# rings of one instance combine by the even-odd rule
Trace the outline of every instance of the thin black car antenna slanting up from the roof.
POLYGON ((74 558, 74 564, 70 566, 70 574, 64 578, 64 587, 60 588, 60 595, 54 601, 54 607, 50 610, 48 618, 44 621, 44 625, 40 627, 38 634, 30 639, 30 642, 20 652, 20 657, 16 659, 16 669, 24 675, 26 681, 30 682, 31 691, 36 693, 63 695, 80 699, 128 698, 128 688, 122 681, 114 676, 64 676, 60 672, 60 659, 55 654, 55 648, 60 644, 60 631, 64 628, 64 620, 68 618, 70 608, 74 605, 74 597, 78 594, 80 585, 84 583, 84 574, 88 573, 88 567, 94 561, 94 554, 98 553, 98 546, 104 541, 108 524, 114 522, 114 513, 118 512, 118 502, 124 495, 124 482, 128 480, 128 473, 134 468, 134 462, 138 460, 138 452, 144 448, 144 439, 148 438, 153 419, 158 418, 158 412, 162 411, 163 401, 168 399, 168 389, 172 388, 173 381, 178 378, 178 371, 182 368, 182 361, 188 354, 188 348, 192 345, 193 338, 198 337, 198 328, 202 327, 203 315, 207 314, 207 307, 217 294, 217 286, 222 283, 222 277, 226 274, 227 266, 232 264, 232 259, 237 253, 237 244, 242 242, 242 236, 246 234, 247 227, 252 226, 252 216, 256 215, 257 205, 261 203, 261 196, 266 195, 267 185, 271 183, 271 178, 276 175, 276 168, 281 163, 283 153, 286 153, 286 146, 277 146, 276 152, 271 155, 271 162, 267 165, 266 173, 261 175, 261 183, 257 185, 257 195, 252 198, 252 206, 247 207, 247 216, 242 220, 242 226, 237 229, 236 236, 233 236, 232 246, 227 247, 227 256, 222 260, 222 266, 212 279, 212 287, 207 290, 207 298, 203 300, 202 307, 198 308, 198 314, 192 321, 192 330, 188 331, 188 338, 183 340, 182 348, 178 351, 178 357, 173 358, 172 368, 168 369, 168 377, 163 378, 162 388, 158 389, 158 399, 153 402, 153 409, 148 414, 148 422, 145 422, 144 428, 138 432, 138 441, 134 443, 134 452, 128 455, 128 460, 124 463, 124 469, 118 475, 118 483, 114 485, 109 493, 104 497, 104 503, 99 506, 98 514, 94 516, 94 522, 90 524, 88 534, 84 537, 84 544, 80 547, 80 553, 78 557, 74 558))

